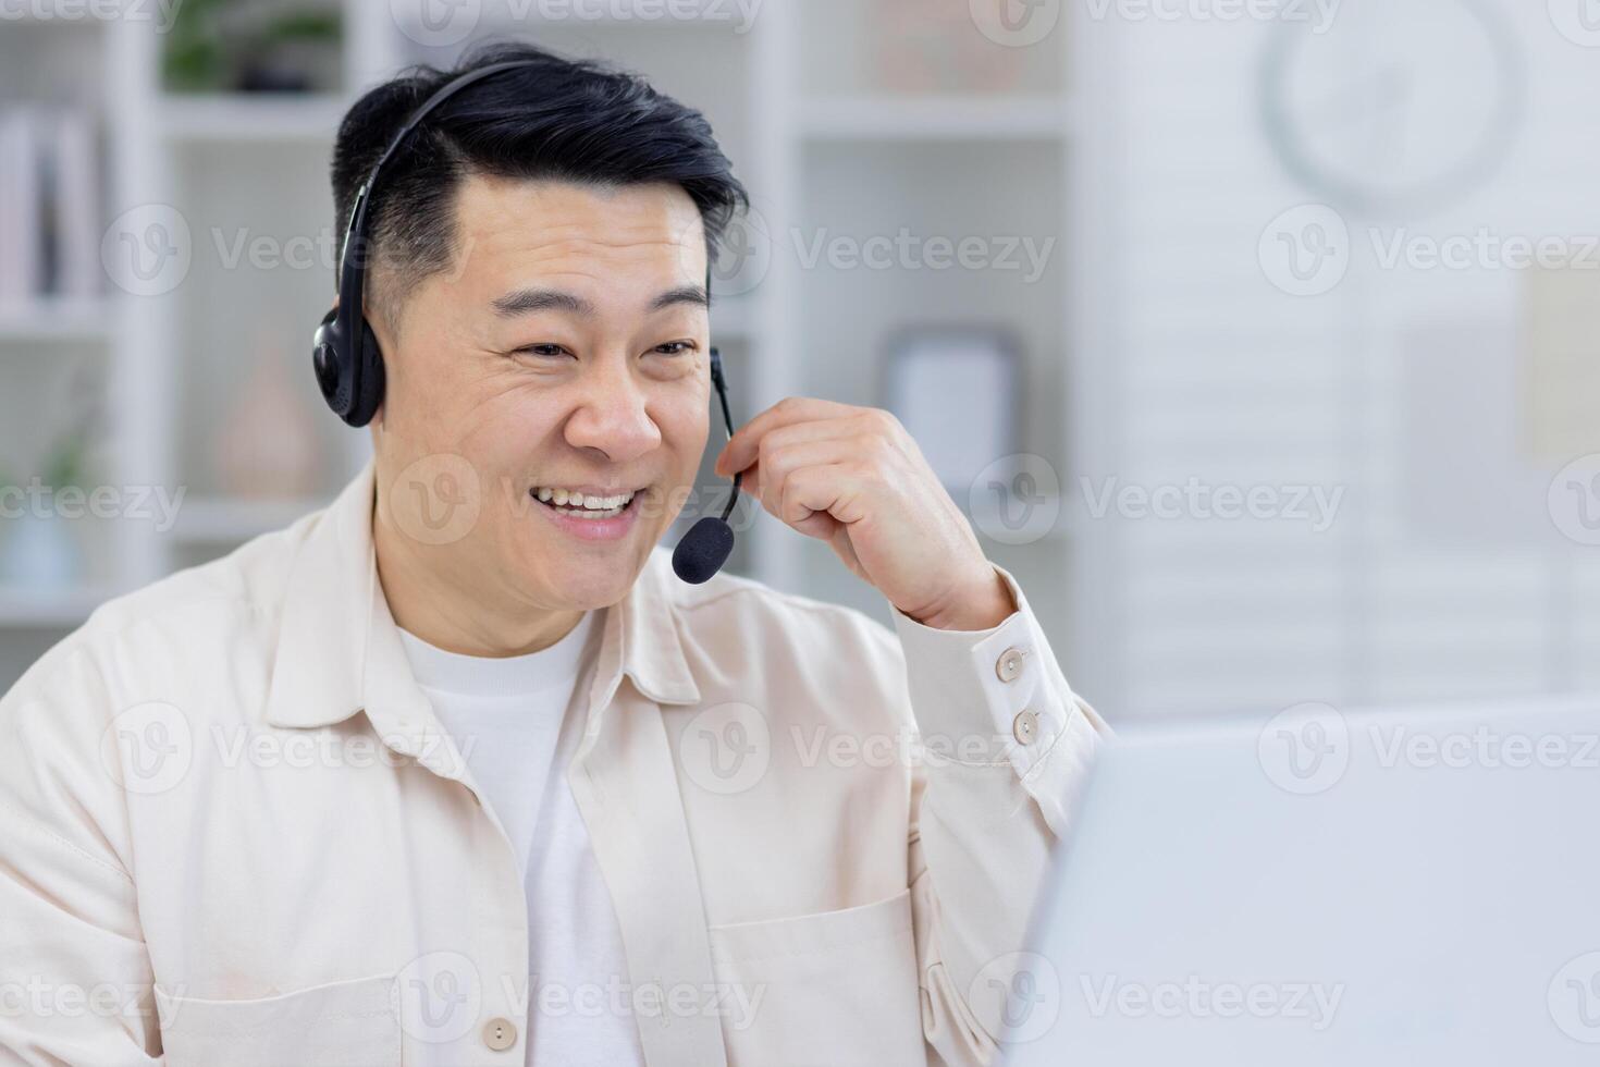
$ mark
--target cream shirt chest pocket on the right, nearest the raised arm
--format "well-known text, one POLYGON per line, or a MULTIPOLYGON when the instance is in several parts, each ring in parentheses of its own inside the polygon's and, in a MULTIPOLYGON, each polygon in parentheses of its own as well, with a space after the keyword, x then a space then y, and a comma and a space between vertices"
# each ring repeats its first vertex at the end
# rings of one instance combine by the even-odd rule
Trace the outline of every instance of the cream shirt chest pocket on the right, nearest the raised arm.
POLYGON ((910 891, 710 926, 731 1067, 926 1064, 910 891))

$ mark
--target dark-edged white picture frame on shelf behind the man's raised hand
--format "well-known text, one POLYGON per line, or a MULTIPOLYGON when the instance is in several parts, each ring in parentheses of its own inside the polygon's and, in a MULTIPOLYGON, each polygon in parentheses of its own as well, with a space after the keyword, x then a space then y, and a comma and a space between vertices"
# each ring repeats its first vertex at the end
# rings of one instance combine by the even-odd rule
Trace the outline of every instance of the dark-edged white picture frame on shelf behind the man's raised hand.
POLYGON ((1018 450, 1018 344, 987 326, 915 326, 890 342, 885 406, 952 494, 1018 450))

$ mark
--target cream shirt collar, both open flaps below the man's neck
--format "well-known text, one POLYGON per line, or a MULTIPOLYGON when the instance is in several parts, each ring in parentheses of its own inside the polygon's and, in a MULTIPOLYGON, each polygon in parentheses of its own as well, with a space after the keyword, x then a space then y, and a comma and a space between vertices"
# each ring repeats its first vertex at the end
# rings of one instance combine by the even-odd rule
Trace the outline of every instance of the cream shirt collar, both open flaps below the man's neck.
MULTIPOLYGON (((290 565, 278 646, 267 689, 274 726, 331 726, 360 710, 384 733, 432 720, 389 613, 373 552, 374 467, 314 515, 290 565)), ((627 595, 605 613, 590 685, 590 718, 627 675, 659 704, 696 704, 699 688, 683 640, 664 549, 651 553, 627 595)))

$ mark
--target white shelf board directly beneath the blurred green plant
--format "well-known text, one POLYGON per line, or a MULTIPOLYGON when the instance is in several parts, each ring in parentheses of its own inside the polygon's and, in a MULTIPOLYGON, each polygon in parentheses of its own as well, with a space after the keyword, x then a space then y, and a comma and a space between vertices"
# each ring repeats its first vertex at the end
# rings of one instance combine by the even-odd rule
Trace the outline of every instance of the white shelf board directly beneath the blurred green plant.
POLYGON ((330 94, 163 96, 158 128, 178 142, 333 144, 349 101, 330 94))

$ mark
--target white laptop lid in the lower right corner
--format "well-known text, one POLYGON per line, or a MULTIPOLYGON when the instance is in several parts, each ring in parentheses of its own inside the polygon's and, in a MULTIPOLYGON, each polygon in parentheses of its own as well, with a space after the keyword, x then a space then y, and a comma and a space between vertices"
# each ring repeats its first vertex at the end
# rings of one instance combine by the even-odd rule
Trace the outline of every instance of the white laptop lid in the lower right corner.
POLYGON ((1118 733, 1003 1062, 1600 1064, 1600 697, 1118 733))

